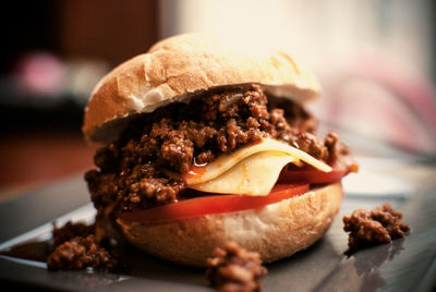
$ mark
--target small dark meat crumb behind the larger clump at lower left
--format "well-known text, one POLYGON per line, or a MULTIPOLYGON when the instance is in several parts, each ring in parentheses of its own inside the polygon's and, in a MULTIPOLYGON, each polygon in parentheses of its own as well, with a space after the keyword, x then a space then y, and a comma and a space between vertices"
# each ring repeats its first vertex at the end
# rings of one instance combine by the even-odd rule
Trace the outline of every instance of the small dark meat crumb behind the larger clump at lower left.
POLYGON ((73 223, 68 221, 63 227, 59 228, 57 222, 53 222, 52 230, 52 246, 57 247, 76 236, 86 238, 95 232, 95 224, 87 226, 83 222, 73 223))

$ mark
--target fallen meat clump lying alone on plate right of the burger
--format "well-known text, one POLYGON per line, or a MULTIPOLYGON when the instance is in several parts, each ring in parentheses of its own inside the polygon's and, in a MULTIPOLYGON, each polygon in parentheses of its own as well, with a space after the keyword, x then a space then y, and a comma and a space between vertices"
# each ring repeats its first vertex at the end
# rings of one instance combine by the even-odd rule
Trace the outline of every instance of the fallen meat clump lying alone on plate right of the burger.
POLYGON ((358 209, 351 216, 344 216, 343 230, 350 232, 349 253, 404 236, 410 227, 401 218, 401 210, 393 209, 388 203, 371 211, 358 209))

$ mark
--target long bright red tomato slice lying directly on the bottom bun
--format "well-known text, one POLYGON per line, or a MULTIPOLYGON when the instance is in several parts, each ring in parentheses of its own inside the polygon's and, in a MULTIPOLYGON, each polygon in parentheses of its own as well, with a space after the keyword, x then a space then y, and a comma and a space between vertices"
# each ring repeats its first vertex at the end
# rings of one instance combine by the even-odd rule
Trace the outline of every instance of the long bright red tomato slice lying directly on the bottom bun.
POLYGON ((118 218, 132 222, 157 222, 199 217, 203 215, 255 209, 302 195, 308 184, 277 184, 267 196, 211 195, 189 198, 152 209, 119 211, 118 218))

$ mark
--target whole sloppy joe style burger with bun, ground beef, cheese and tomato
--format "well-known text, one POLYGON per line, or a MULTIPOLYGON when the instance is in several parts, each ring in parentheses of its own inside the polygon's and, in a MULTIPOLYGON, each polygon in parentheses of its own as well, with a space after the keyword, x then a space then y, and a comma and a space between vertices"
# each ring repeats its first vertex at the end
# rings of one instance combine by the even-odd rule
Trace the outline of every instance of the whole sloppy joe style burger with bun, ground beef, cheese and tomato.
POLYGON ((283 52, 253 56, 202 34, 154 45, 108 73, 83 133, 101 147, 86 173, 96 238, 204 266, 232 241, 269 263, 329 228, 341 178, 358 170, 305 109, 315 76, 283 52))

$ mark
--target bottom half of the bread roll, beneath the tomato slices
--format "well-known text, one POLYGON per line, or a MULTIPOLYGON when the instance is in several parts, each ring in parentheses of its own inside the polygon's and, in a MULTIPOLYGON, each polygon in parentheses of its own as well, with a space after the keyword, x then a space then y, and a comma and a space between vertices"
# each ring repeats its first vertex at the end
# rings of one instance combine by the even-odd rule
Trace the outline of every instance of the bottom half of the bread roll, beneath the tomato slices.
POLYGON ((258 252, 262 260, 269 263, 304 250, 323 236, 341 199, 338 182, 258 209, 168 222, 117 222, 140 250, 178 264, 205 266, 214 248, 229 241, 258 252))

